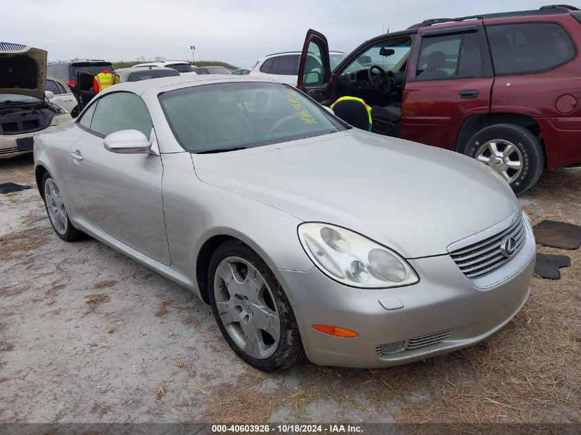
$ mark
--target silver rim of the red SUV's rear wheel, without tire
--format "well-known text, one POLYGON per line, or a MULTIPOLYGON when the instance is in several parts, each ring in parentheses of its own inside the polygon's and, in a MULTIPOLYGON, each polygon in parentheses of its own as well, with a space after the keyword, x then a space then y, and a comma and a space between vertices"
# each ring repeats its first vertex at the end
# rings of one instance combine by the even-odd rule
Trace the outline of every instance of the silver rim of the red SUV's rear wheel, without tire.
POLYGON ((476 151, 476 160, 490 166, 507 183, 512 183, 523 172, 523 154, 515 144, 504 139, 485 142, 476 151))

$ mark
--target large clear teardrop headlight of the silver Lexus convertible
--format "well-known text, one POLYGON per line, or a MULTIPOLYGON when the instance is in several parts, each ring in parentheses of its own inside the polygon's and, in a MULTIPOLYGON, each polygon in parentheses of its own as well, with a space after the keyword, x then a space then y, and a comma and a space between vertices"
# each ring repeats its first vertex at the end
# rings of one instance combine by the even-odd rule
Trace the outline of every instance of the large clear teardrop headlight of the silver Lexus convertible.
POLYGON ((313 263, 344 285, 382 289, 419 281, 402 256, 345 228, 328 223, 301 223, 298 238, 313 263))

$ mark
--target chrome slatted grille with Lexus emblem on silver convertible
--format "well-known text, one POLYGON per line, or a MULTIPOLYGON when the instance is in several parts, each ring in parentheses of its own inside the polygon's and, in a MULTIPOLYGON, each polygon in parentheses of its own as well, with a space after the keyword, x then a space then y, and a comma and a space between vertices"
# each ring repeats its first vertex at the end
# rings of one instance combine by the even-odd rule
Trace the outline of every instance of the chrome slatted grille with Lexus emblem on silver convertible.
POLYGON ((518 216, 518 219, 505 230, 483 241, 452 251, 450 256, 465 276, 472 279, 479 278, 490 274, 514 258, 525 243, 525 235, 523 217, 518 216), (507 257, 503 254, 501 245, 508 237, 514 238, 515 249, 514 253, 507 257))

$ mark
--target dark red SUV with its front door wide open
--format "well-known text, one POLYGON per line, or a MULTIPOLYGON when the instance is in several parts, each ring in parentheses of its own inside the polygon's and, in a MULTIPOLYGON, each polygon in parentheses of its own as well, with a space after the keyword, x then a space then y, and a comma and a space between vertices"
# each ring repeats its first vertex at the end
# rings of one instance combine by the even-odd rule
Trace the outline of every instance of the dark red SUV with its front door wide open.
POLYGON ((580 46, 581 11, 551 5, 427 20, 331 73, 327 39, 309 30, 298 88, 325 105, 362 98, 375 133, 474 157, 519 194, 542 168, 581 163, 580 46))

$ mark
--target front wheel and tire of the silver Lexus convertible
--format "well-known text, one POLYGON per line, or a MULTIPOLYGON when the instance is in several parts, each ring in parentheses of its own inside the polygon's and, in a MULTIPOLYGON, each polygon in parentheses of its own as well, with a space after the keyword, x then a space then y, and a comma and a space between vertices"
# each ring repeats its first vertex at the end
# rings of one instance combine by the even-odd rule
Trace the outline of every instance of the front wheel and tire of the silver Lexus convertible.
POLYGON ((303 359, 298 325, 280 283, 240 241, 220 245, 208 267, 212 313, 234 353, 267 372, 303 359))

